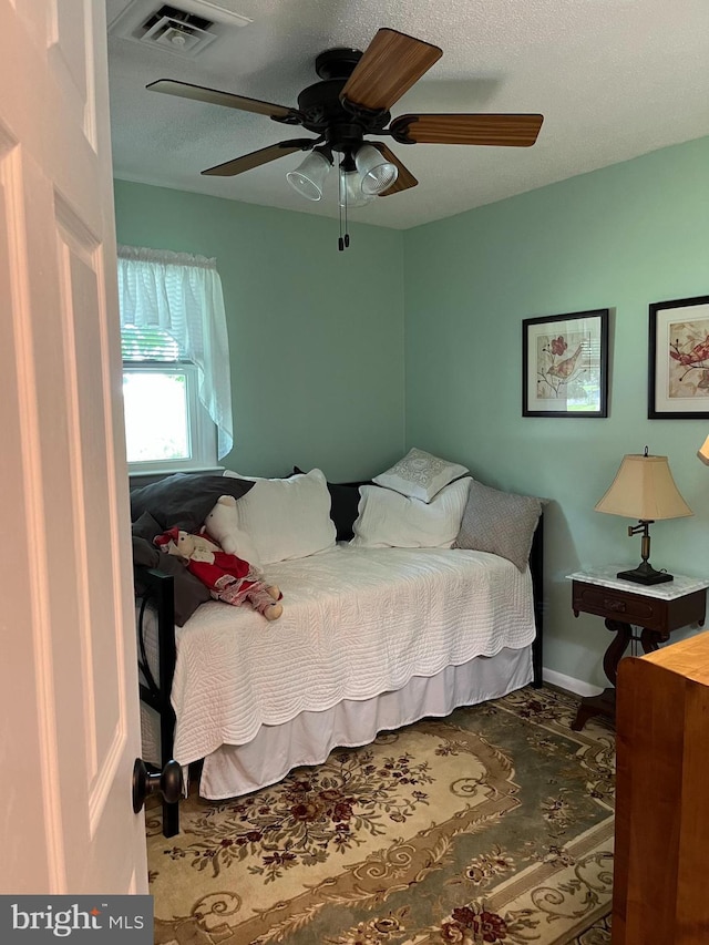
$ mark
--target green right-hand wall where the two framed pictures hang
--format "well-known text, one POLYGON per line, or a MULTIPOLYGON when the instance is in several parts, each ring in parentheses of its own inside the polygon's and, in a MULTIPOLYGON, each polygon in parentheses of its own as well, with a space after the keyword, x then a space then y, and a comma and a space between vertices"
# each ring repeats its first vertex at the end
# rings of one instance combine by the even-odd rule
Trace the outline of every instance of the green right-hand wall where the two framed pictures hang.
POLYGON ((709 295, 709 138, 404 234, 407 445, 551 500, 545 664, 603 684, 599 618, 569 572, 639 562, 627 520, 594 512, 625 453, 666 454, 692 518, 651 528, 651 562, 709 576, 709 421, 647 420, 648 305, 709 295), (522 418, 522 320, 612 310, 607 419, 522 418))

